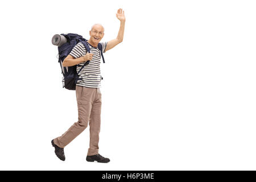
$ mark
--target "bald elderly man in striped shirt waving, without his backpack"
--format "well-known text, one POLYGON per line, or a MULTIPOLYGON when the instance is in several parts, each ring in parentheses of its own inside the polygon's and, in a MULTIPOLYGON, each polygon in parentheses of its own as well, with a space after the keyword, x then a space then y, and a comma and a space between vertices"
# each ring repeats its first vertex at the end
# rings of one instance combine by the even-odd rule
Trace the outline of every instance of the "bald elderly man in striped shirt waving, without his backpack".
POLYGON ((100 163, 108 163, 110 161, 98 153, 101 125, 101 55, 98 49, 98 43, 102 45, 102 52, 106 52, 123 41, 125 12, 122 9, 118 9, 116 16, 121 22, 117 38, 109 42, 100 43, 104 37, 104 27, 101 24, 94 24, 92 30, 89 32, 90 39, 88 40, 91 53, 87 53, 84 44, 80 42, 63 61, 64 67, 77 65, 77 71, 79 71, 82 65, 90 60, 89 64, 79 73, 79 77, 82 79, 76 84, 79 121, 74 123, 63 135, 52 140, 52 146, 55 147, 55 154, 60 160, 65 160, 64 147, 82 133, 89 123, 90 146, 86 160, 88 162, 97 161, 100 163))

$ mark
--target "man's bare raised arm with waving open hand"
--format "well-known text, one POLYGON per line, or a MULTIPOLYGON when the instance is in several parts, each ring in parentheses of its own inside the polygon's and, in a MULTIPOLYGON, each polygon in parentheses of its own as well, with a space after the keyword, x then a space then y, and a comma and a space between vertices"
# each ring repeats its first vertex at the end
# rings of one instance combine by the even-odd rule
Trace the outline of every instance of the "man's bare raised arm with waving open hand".
POLYGON ((119 9, 116 14, 117 18, 120 20, 120 28, 118 31, 117 38, 110 40, 106 46, 105 51, 112 49, 113 47, 117 46, 117 44, 123 42, 123 34, 125 32, 125 11, 119 9))

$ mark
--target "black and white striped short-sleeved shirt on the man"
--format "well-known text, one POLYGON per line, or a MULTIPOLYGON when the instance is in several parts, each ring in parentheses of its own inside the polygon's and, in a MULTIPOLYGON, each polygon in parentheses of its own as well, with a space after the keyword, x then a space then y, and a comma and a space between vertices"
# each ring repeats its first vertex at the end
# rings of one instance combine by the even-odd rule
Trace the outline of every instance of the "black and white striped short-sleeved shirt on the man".
MULTIPOLYGON (((100 43, 102 45, 102 52, 105 53, 106 45, 108 42, 100 43)), ((101 51, 100 49, 93 47, 88 43, 90 47, 90 53, 93 53, 92 60, 90 60, 89 64, 87 64, 84 68, 82 68, 81 72, 79 73, 79 77, 82 80, 77 81, 76 85, 85 86, 89 88, 100 88, 101 87, 101 51)), ((79 58, 81 56, 85 56, 87 50, 81 42, 78 43, 69 53, 69 55, 79 58)), ((80 71, 82 65, 85 64, 86 61, 77 64, 76 71, 77 73, 80 71)))

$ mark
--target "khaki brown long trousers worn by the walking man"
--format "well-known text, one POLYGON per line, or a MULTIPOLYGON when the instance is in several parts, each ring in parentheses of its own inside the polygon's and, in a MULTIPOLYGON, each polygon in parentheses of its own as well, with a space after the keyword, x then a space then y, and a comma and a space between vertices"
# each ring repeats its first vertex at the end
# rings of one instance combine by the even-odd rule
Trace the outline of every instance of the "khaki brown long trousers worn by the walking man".
POLYGON ((64 148, 82 131, 90 126, 90 147, 87 155, 98 154, 98 141, 101 126, 101 92, 100 88, 88 88, 76 86, 76 100, 79 118, 68 131, 61 137, 57 137, 53 142, 60 148, 64 148))

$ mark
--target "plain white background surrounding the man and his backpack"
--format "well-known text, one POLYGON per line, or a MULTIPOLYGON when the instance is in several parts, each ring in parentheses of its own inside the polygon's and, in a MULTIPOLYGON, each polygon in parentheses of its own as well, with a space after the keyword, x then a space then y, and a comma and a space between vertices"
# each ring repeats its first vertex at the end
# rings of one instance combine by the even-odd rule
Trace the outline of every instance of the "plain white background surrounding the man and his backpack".
POLYGON ((1 2, 2 170, 255 170, 255 1, 1 2), (57 159, 51 140, 77 122, 55 34, 123 42, 101 64, 100 154, 89 127, 57 159))

